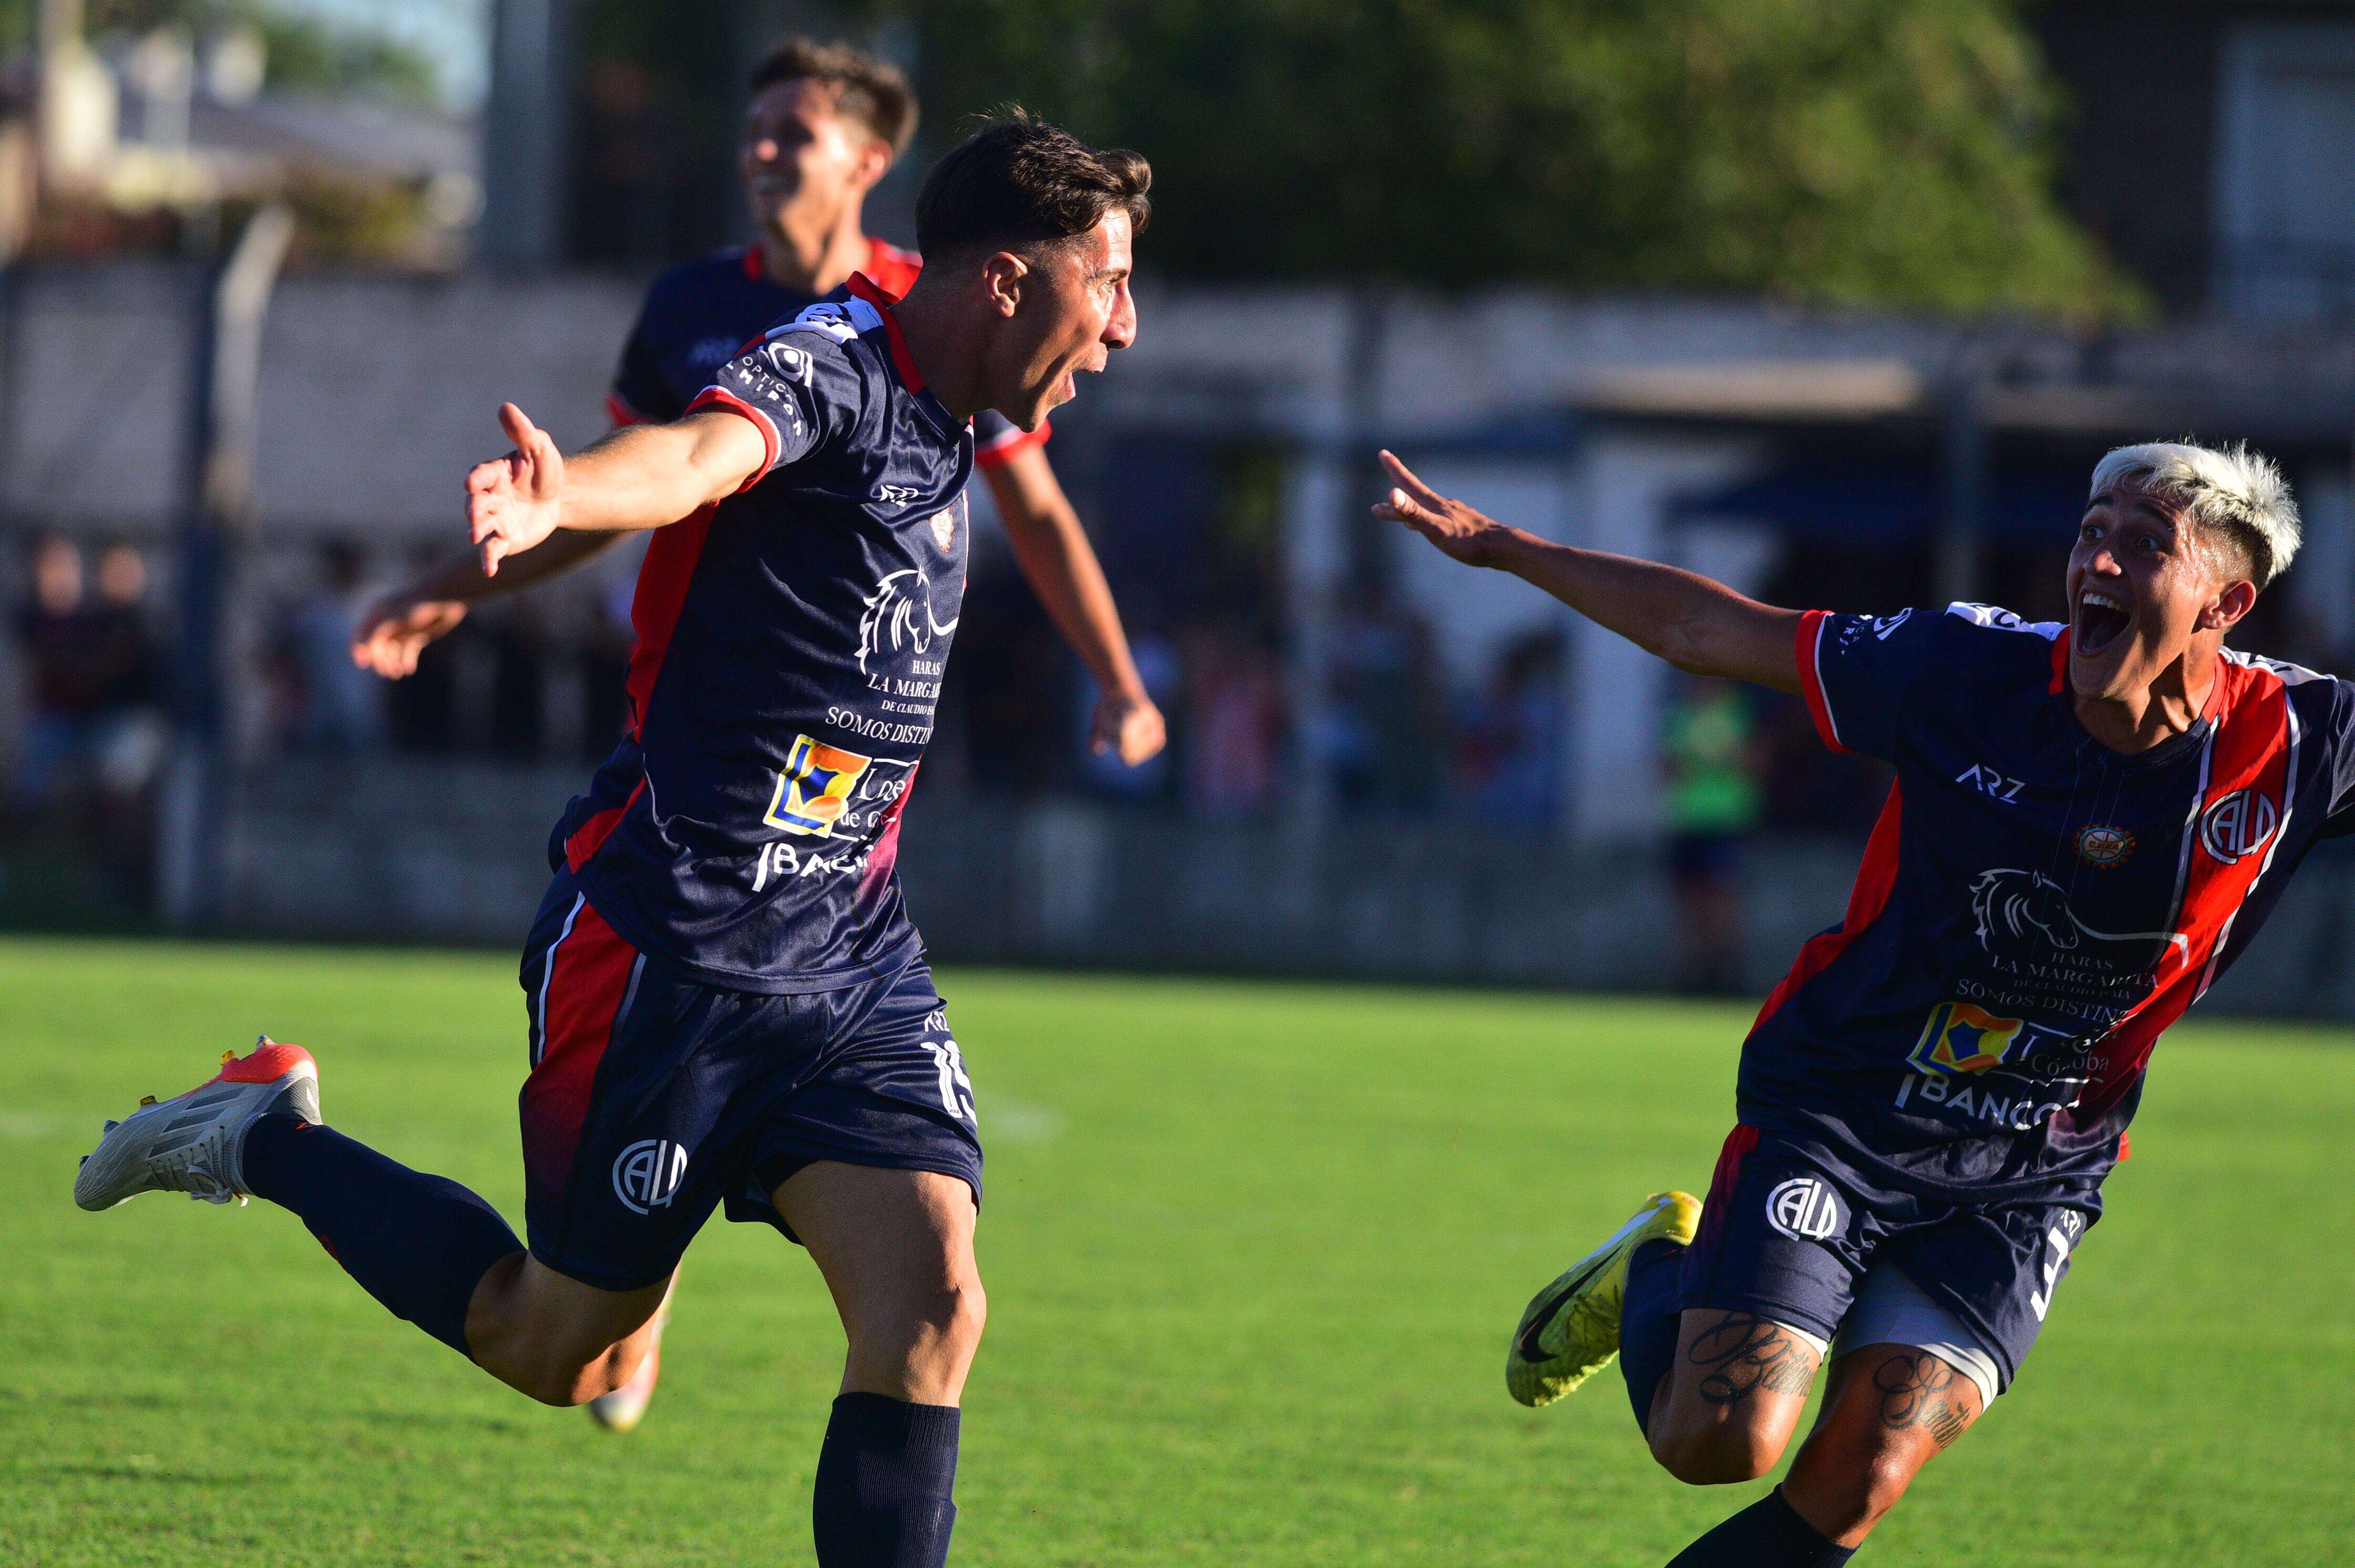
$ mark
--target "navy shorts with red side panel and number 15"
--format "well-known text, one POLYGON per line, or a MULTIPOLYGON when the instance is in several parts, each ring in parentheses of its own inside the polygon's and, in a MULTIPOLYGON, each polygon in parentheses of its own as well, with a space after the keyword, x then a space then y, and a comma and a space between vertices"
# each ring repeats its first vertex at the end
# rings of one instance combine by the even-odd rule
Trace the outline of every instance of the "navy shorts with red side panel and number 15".
POLYGON ((671 1276, 711 1210, 815 1161, 937 1170, 982 1201, 973 1083, 930 968, 761 996, 671 977, 558 876, 523 949, 532 1257, 601 1290, 671 1276))

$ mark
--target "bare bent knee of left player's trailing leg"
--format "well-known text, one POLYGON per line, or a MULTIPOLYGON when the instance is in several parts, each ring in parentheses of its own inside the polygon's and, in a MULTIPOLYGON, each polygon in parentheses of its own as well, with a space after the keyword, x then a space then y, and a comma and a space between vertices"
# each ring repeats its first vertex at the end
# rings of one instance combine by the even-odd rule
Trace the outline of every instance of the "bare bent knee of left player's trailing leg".
POLYGON ((549 1406, 612 1394, 655 1342, 671 1283, 598 1290, 530 1253, 490 1264, 466 1302, 466 1349, 499 1382, 549 1406))

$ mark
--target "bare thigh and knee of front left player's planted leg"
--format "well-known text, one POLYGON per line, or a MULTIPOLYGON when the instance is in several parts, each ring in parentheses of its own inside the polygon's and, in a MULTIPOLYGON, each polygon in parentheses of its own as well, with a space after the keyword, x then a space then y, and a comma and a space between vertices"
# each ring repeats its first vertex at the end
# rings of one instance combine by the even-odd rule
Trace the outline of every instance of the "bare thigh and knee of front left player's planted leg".
POLYGON ((843 1394, 958 1403, 987 1316, 973 1189, 937 1170, 817 1161, 770 1201, 834 1293, 850 1337, 843 1394))

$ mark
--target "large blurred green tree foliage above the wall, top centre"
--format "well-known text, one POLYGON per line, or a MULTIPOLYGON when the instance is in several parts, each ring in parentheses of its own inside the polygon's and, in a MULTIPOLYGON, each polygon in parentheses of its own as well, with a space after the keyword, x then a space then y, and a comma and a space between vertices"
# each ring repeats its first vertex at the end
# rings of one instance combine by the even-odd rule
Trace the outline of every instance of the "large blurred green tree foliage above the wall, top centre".
POLYGON ((2014 0, 867 0, 942 146, 1022 101, 1154 162, 1199 278, 2131 311, 2054 198, 2014 0))

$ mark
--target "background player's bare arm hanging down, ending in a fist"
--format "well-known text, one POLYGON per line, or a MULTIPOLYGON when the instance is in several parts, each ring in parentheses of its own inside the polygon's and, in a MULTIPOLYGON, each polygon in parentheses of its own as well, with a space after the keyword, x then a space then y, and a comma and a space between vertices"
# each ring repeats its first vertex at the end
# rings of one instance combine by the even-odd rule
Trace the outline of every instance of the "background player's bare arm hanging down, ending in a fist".
POLYGON ((1022 574, 1102 692, 1088 744, 1100 753, 1119 751, 1135 768, 1168 744, 1168 727, 1128 657, 1128 633, 1121 631, 1121 612, 1112 603, 1088 530, 1079 525, 1072 499, 1039 447, 982 469, 982 478, 989 480, 1022 574))

